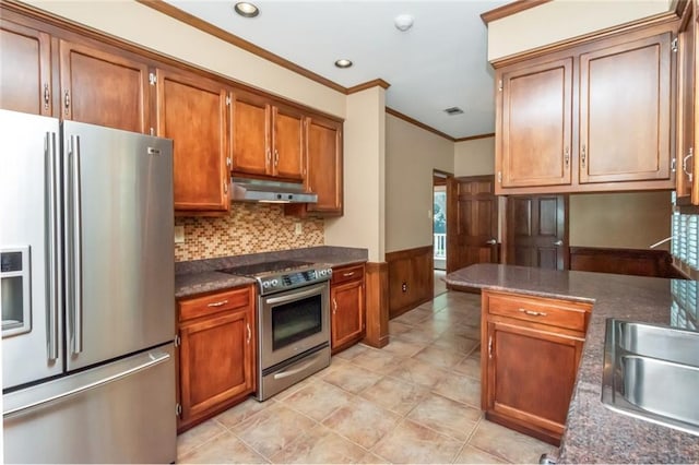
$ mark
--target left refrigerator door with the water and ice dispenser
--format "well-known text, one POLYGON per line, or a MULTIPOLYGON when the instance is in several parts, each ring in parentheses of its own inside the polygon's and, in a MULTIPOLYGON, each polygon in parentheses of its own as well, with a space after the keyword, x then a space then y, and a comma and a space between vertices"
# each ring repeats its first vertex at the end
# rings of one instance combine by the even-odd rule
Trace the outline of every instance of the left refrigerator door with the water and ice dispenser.
POLYGON ((17 255, 3 260, 3 390, 63 369, 58 131, 57 119, 0 110, 0 250, 17 255))

